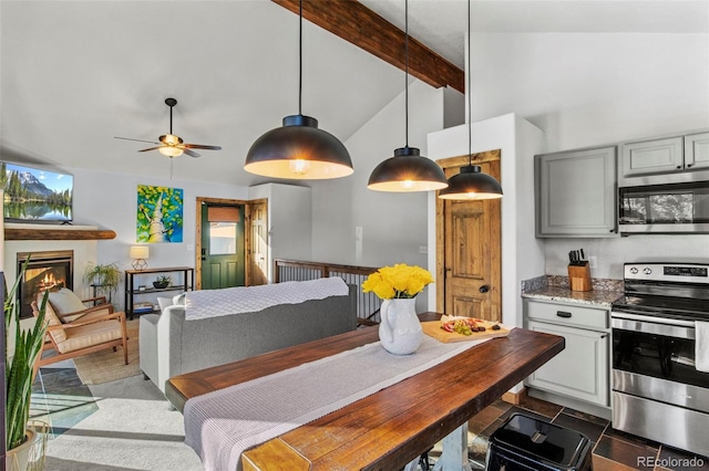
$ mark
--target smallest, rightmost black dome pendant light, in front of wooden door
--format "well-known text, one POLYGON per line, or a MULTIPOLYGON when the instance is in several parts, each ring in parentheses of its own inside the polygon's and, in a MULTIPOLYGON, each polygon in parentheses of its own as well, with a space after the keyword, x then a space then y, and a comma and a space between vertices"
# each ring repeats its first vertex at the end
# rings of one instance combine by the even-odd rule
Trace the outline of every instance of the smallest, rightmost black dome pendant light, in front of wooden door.
POLYGON ((439 198, 443 199, 495 199, 502 198, 502 187, 500 182, 487 174, 483 174, 479 165, 473 165, 473 122, 471 96, 471 34, 470 34, 470 2, 467 0, 467 165, 461 167, 461 172, 452 176, 448 180, 448 188, 439 192, 439 198))

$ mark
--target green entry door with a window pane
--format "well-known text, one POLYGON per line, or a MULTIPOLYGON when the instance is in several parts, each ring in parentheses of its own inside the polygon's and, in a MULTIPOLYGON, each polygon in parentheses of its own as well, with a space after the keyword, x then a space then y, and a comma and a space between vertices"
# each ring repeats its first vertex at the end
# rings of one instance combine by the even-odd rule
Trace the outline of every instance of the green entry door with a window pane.
POLYGON ((202 205, 202 289, 244 286, 244 207, 202 205))

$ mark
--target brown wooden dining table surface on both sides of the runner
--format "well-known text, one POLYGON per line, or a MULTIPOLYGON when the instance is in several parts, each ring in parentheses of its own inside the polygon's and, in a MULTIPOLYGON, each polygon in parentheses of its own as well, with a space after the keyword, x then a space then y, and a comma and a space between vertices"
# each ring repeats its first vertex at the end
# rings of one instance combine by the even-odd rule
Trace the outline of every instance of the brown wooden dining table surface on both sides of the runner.
MULTIPOLYGON (((440 317, 420 315, 422 321, 440 317)), ((181 411, 196 396, 315 362, 379 339, 377 327, 284 348, 171 378, 165 396, 181 411)), ((464 449, 467 420, 564 349, 564 338, 523 328, 476 345, 408 379, 246 451, 244 470, 392 470, 438 441, 464 449)), ((287 400, 287 391, 284 394, 287 400)), ((445 453, 445 451, 444 451, 445 453)), ((462 456, 462 454, 465 456, 462 456)), ((448 453, 450 457, 450 453, 448 453)), ((450 459, 450 458, 449 458, 450 459)), ((449 469, 449 468, 444 468, 449 469)), ((460 464, 458 469, 465 469, 460 464)))

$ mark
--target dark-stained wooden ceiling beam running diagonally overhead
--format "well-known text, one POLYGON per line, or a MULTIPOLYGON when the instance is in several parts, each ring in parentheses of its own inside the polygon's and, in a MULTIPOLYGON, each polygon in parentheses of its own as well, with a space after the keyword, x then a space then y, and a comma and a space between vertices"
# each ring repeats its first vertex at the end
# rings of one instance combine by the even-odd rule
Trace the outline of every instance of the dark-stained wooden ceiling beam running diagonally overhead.
MULTIPOLYGON (((299 0, 271 0, 298 14, 299 0)), ((405 70, 405 34, 357 0, 305 0, 302 18, 405 70)), ((409 74, 465 93, 465 73, 409 34, 409 74)))

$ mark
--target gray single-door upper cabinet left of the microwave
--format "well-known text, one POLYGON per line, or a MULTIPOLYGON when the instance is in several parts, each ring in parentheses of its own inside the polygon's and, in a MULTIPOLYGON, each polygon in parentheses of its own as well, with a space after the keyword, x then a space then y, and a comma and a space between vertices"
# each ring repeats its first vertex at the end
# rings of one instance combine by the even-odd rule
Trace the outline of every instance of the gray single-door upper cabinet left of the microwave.
POLYGON ((616 237, 616 146, 534 156, 536 237, 616 237))

